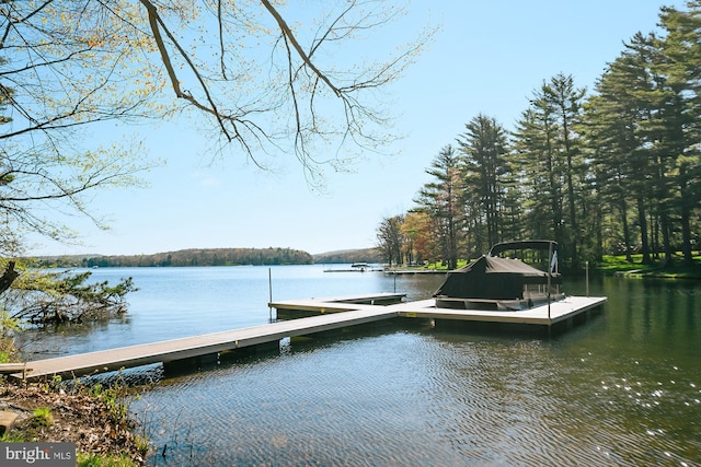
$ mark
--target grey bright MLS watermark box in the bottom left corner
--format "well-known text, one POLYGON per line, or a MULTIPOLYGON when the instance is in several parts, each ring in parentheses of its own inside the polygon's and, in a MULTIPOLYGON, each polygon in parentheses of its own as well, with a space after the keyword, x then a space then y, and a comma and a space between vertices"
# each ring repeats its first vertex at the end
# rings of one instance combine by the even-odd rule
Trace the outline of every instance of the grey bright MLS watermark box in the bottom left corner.
POLYGON ((76 467, 76 444, 0 443, 0 466, 76 467))

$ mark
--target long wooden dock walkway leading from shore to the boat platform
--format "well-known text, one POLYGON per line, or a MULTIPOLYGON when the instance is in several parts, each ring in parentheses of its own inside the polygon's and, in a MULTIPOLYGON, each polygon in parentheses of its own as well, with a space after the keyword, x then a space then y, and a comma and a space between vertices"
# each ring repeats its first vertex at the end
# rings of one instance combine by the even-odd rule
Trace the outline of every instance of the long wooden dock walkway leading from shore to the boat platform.
POLYGON ((36 380, 61 376, 82 376, 153 363, 173 363, 217 357, 219 353, 257 346, 279 348, 284 338, 308 336, 344 327, 391 318, 428 318, 432 320, 462 320, 493 324, 551 326, 570 320, 606 302, 606 297, 568 296, 519 312, 437 308, 435 300, 395 303, 403 294, 353 295, 345 297, 308 299, 271 303, 278 312, 314 313, 315 316, 253 326, 221 332, 139 346, 123 347, 77 355, 35 360, 22 365, 13 376, 36 380), (387 304, 393 303, 393 304, 387 304))

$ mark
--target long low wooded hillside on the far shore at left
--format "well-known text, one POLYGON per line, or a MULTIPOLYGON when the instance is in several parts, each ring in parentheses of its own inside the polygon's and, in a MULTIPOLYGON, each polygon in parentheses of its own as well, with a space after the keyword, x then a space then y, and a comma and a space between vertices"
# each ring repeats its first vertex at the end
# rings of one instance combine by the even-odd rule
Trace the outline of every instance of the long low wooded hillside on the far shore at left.
POLYGON ((39 267, 59 268, 313 264, 309 253, 290 248, 192 248, 153 255, 55 256, 34 259, 39 267))

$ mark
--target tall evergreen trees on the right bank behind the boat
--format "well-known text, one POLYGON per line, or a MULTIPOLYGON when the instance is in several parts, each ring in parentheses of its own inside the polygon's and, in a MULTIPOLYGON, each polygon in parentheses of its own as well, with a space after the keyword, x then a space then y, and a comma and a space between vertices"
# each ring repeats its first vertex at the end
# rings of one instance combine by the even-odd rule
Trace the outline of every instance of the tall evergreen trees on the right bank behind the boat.
POLYGON ((701 1, 663 7, 587 96, 543 81, 513 131, 478 115, 445 145, 405 213, 386 218, 390 262, 474 258, 501 241, 554 240, 561 265, 605 254, 691 265, 701 231, 701 1))

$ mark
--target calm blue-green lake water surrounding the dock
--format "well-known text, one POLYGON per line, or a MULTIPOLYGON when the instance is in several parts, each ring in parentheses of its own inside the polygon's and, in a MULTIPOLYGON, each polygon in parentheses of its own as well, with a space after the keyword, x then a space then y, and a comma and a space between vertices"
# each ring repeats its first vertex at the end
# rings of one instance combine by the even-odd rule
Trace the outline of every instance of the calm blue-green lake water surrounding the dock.
MULTIPOLYGON (((274 300, 425 299, 443 280, 323 270, 99 269, 99 280, 134 277, 129 314, 27 334, 24 350, 38 359, 264 324, 268 273, 274 300)), ((565 287, 585 293, 583 281, 565 287)), ((154 446, 149 465, 701 465, 701 284, 593 278, 589 293, 608 296, 602 313, 552 338, 400 322, 182 376, 129 372, 153 381, 131 404, 154 446)))

